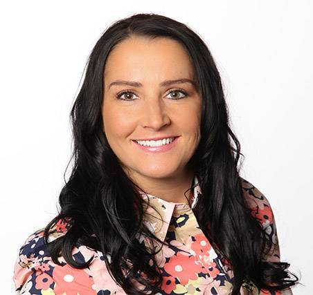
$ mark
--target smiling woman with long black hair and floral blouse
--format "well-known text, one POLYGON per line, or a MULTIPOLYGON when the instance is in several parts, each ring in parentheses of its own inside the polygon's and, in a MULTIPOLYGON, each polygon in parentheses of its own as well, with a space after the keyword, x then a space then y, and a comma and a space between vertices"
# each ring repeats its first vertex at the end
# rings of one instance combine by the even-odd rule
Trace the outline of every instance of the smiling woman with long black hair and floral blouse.
POLYGON ((292 294, 273 211, 239 175, 220 75, 190 28, 114 23, 71 118, 75 165, 60 214, 21 247, 18 294, 292 294))

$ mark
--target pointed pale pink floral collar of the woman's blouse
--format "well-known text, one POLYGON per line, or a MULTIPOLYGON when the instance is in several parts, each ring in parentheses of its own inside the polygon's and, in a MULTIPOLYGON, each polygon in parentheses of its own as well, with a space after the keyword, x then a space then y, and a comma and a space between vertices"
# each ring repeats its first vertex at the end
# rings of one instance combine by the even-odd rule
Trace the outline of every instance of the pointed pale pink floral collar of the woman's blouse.
MULTIPOLYGON (((190 211, 195 208, 199 196, 201 196, 201 189, 197 176, 195 176, 193 180, 193 202, 191 207, 186 203, 168 202, 148 193, 143 193, 141 190, 139 190, 139 193, 143 200, 145 200, 144 209, 146 211, 145 216, 143 216, 143 222, 147 228, 152 231, 152 234, 164 241, 174 211, 175 215, 177 215, 177 213, 190 213, 190 211)), ((140 242, 142 242, 143 239, 142 237, 140 242)))

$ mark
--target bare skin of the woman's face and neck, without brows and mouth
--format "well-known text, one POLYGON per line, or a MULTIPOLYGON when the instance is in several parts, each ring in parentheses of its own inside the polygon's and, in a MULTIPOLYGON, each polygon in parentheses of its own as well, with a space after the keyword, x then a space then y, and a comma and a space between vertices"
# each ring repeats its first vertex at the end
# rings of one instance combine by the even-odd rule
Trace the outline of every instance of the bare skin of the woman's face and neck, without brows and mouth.
POLYGON ((123 170, 143 191, 169 202, 188 203, 194 171, 188 169, 200 140, 202 97, 188 82, 160 86, 166 80, 195 81, 184 47, 169 38, 126 39, 111 50, 104 70, 103 131, 123 170), (116 80, 142 86, 109 85, 116 80), (175 88, 183 89, 187 95, 175 88), (126 93, 120 98, 116 95, 126 93), (180 98, 180 99, 175 99, 180 98), (148 153, 132 140, 179 136, 165 153, 148 153))

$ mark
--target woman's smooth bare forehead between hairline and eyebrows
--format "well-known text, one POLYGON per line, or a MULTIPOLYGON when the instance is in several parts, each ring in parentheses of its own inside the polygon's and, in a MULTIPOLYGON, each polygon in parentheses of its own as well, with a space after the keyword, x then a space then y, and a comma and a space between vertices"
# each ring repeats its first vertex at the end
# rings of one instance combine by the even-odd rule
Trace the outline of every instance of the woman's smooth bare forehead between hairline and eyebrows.
POLYGON ((111 50, 105 64, 105 80, 111 79, 193 79, 193 64, 185 48, 164 37, 132 37, 111 50))

